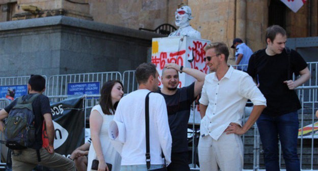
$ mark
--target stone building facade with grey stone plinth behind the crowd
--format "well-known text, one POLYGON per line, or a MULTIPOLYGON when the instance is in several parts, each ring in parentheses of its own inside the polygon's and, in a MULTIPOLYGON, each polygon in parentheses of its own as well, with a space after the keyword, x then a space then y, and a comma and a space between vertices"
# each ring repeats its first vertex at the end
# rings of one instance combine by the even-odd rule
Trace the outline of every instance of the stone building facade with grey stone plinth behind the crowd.
MULTIPOLYGON (((139 28, 174 25, 180 3, 192 8, 190 23, 202 39, 229 47, 237 37, 253 51, 266 47, 272 24, 288 38, 318 36, 316 0, 297 13, 280 0, 0 0, 0 77, 133 70, 151 55, 151 39, 164 37, 139 28)), ((252 168, 254 142, 246 141, 245 166, 252 168)))

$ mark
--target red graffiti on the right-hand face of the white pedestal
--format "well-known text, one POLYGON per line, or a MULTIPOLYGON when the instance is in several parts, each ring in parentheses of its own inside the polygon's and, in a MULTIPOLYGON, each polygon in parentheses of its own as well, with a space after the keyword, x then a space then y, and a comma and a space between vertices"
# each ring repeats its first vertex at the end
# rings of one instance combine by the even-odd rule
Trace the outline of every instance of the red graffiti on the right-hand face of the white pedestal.
MULTIPOLYGON (((191 62, 191 68, 197 69, 203 73, 208 73, 208 67, 206 66, 205 62, 203 61, 205 51, 204 47, 207 43, 202 44, 200 41, 193 41, 193 47, 189 46, 189 50, 192 51, 193 55, 193 62, 191 62)), ((190 54, 188 54, 188 57, 190 54)))

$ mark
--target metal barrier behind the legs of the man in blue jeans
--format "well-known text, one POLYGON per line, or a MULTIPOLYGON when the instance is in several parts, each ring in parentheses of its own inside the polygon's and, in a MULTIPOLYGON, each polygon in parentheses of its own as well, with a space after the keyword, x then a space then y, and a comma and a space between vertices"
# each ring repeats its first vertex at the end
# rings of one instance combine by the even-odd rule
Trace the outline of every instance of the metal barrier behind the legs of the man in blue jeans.
MULTIPOLYGON (((314 146, 318 141, 318 130, 317 126, 314 126, 316 122, 314 119, 314 113, 318 109, 318 102, 316 99, 316 94, 318 91, 318 86, 306 86, 306 87, 299 87, 296 89, 297 94, 300 97, 300 101, 302 104, 302 108, 299 110, 299 121, 300 121, 300 133, 299 133, 299 157, 300 157, 300 164, 301 164, 301 170, 318 170, 318 164, 316 163, 316 160, 318 158, 318 153, 314 151, 314 146), (309 91, 311 90, 311 91, 309 91), (306 93, 310 92, 309 98, 304 98, 306 93), (311 125, 309 127, 309 131, 312 133, 310 135, 304 136, 304 128, 306 131, 308 131, 308 125, 311 125), (306 143, 304 143, 306 141, 306 143)), ((306 96, 307 97, 307 96, 306 96)), ((257 129, 257 125, 254 124, 253 126, 254 131, 254 147, 253 147, 253 168, 252 169, 244 169, 244 170, 265 170, 263 162, 260 162, 260 159, 263 160, 263 157, 260 156, 261 150, 260 150, 260 139, 259 139, 259 133, 257 129)), ((307 133, 308 134, 308 133, 307 133)), ((244 137, 246 135, 243 135, 243 141, 244 137)), ((244 145, 246 145, 246 142, 244 141, 244 145)), ((245 148, 246 149, 246 148, 245 148)), ((282 160, 282 151, 281 151, 281 145, 279 143, 279 165, 281 170, 284 169, 284 161, 282 160)))

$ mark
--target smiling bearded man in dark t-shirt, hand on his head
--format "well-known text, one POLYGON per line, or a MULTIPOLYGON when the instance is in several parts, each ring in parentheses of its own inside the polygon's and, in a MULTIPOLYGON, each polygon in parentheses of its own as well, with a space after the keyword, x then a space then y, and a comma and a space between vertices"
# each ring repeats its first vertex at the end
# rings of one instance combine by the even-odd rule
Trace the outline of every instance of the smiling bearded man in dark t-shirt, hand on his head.
POLYGON ((187 140, 190 108, 195 98, 201 93, 205 75, 199 70, 185 68, 174 63, 166 64, 162 71, 163 88, 158 90, 157 93, 162 94, 166 100, 172 136, 171 163, 167 167, 168 170, 190 170, 187 140), (188 87, 178 89, 178 71, 193 76, 196 81, 188 87))

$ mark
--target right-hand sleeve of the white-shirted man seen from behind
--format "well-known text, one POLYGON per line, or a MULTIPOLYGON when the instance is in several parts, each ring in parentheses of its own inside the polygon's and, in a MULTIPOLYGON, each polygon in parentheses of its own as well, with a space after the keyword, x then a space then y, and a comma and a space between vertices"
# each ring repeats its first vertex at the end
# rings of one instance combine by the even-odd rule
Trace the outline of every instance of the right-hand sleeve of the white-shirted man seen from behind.
POLYGON ((157 96, 156 103, 156 126, 161 148, 166 158, 166 164, 171 163, 172 137, 168 122, 167 105, 162 95, 157 96))

